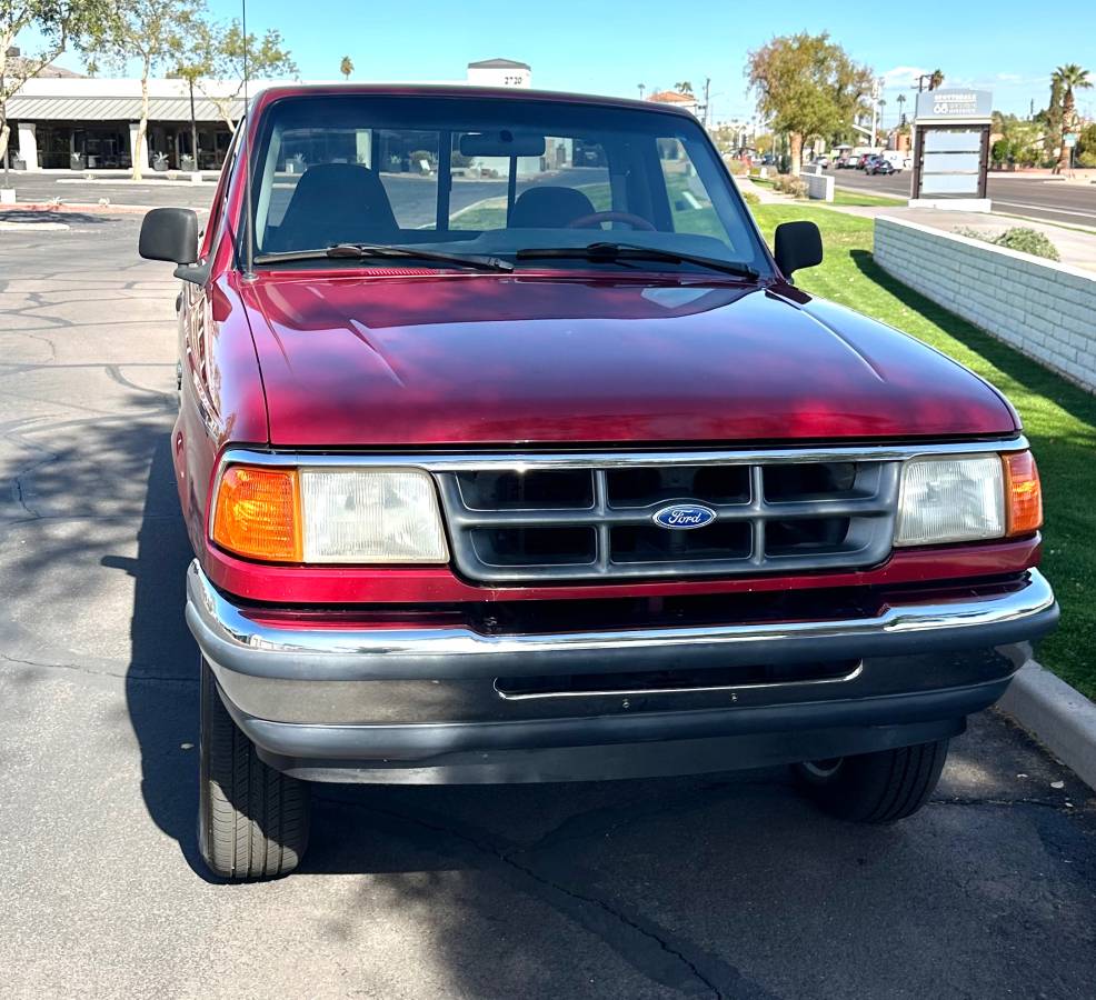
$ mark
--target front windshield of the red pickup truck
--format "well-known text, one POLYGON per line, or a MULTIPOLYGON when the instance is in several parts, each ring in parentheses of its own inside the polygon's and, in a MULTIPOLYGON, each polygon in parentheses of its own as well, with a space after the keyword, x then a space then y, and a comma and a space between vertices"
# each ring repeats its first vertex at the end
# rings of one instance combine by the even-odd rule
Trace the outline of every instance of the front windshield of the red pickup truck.
MULTIPOLYGON (((676 114, 518 96, 301 96, 270 106, 255 162, 255 251, 265 266, 362 244, 518 267, 532 266, 519 251, 554 249, 576 252, 538 257, 536 267, 705 270, 635 250, 650 248, 769 272, 699 122, 676 114), (585 251, 606 242, 632 251, 585 251)), ((391 260, 373 252, 355 266, 391 260)))

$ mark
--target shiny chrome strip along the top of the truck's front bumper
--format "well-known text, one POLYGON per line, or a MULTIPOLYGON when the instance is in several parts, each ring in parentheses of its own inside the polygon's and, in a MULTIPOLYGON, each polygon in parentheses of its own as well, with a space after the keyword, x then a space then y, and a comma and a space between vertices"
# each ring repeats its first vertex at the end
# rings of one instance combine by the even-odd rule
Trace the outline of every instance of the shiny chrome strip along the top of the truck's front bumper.
POLYGON ((272 653, 271 659, 295 654, 366 657, 372 661, 402 657, 496 662, 502 658, 570 652, 620 653, 650 648, 685 650, 697 647, 751 647, 764 649, 788 640, 798 643, 839 639, 992 628, 1035 617, 1054 607, 1049 583, 1029 570, 1019 589, 993 597, 937 603, 895 604, 874 618, 824 621, 760 622, 686 628, 621 629, 566 633, 486 636, 464 627, 386 629, 278 628, 252 621, 222 597, 197 561, 187 573, 190 608, 206 634, 240 650, 272 653))

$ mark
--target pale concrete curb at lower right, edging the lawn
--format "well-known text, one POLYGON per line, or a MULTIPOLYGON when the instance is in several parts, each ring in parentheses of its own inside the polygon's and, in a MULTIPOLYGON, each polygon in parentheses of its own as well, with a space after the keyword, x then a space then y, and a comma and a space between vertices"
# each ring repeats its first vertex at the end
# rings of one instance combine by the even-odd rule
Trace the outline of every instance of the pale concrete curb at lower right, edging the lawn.
POLYGON ((1096 789, 1096 704, 1028 660, 997 707, 1096 789))

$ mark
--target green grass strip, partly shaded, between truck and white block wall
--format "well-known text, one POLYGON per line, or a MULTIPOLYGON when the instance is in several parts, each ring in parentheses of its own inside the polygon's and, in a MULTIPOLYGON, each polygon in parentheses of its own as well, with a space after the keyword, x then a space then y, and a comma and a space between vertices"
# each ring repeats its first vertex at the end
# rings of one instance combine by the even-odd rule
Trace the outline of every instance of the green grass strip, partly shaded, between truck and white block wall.
POLYGON ((774 228, 811 219, 826 261, 797 274, 804 290, 849 306, 950 354, 1000 389, 1019 411, 1043 479, 1043 569, 1062 604, 1062 624, 1040 662, 1096 698, 1096 397, 935 304, 878 268, 871 220, 807 204, 766 204, 754 216, 774 228))

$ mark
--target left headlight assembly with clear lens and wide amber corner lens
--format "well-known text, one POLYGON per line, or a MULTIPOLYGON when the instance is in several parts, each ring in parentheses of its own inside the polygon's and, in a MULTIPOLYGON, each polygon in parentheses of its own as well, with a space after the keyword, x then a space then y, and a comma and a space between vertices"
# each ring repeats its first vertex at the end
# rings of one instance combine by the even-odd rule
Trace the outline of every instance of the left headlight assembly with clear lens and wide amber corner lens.
POLYGON ((417 470, 230 466, 210 537, 269 562, 448 562, 434 481, 417 470))

